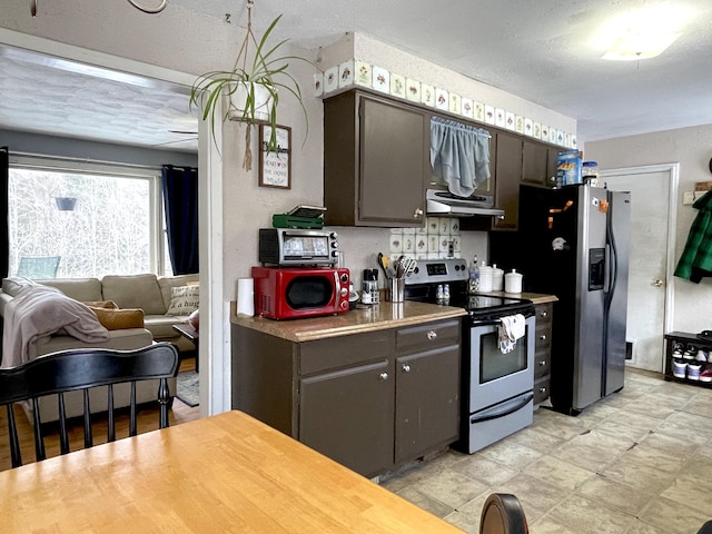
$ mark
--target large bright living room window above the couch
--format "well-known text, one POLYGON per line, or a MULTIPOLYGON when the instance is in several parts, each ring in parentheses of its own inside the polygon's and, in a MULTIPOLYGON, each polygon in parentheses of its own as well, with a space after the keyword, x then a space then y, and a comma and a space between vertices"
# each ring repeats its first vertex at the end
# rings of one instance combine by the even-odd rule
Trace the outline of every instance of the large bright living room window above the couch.
POLYGON ((171 274, 160 169, 10 156, 9 274, 59 257, 55 276, 171 274))

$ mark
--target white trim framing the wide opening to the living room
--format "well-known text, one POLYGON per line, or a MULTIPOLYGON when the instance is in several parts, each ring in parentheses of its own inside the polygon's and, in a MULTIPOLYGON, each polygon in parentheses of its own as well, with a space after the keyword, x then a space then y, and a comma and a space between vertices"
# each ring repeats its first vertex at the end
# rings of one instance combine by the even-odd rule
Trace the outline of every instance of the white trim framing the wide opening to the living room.
MULTIPOLYGON (((109 53, 52 41, 0 28, 0 43, 24 48, 49 56, 103 67, 106 69, 156 78, 190 87, 195 75, 156 65, 111 56, 109 53)), ((187 98, 187 97, 186 97, 187 98)), ((218 115, 220 109, 217 109, 218 115)), ((200 241, 200 416, 227 412, 230 393, 230 305, 224 299, 222 273, 222 144, 221 129, 215 130, 215 142, 207 121, 198 125, 199 220, 200 241)))

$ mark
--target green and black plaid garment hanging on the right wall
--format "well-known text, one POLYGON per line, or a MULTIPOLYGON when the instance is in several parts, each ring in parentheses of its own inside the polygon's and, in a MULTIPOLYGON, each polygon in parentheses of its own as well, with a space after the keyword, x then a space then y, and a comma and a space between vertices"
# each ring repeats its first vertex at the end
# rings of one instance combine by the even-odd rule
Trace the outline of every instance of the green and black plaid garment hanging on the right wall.
POLYGON ((690 235, 675 268, 675 276, 699 284, 703 276, 712 276, 712 191, 695 200, 699 209, 690 235))

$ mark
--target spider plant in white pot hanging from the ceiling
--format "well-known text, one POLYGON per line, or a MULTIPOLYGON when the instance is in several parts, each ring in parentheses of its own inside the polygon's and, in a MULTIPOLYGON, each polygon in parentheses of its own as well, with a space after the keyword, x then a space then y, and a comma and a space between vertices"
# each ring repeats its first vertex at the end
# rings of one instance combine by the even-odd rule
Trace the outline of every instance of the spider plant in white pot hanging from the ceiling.
POLYGON ((238 120, 247 123, 245 134, 245 158, 243 167, 251 169, 251 127, 258 123, 266 123, 270 127, 267 151, 277 152, 277 106, 279 103, 279 90, 290 92, 301 106, 305 122, 308 117, 304 102, 301 101, 301 90, 297 80, 287 71, 289 60, 306 61, 308 59, 298 56, 277 56, 279 48, 285 44, 285 39, 273 48, 267 49, 267 39, 281 18, 278 16, 271 21, 263 38, 257 41, 253 33, 251 24, 251 1, 247 3, 247 34, 239 49, 233 70, 214 70, 200 76, 190 90, 190 107, 202 105, 202 119, 210 121, 210 130, 215 139, 215 123, 225 120, 238 120), (250 65, 247 62, 248 48, 256 47, 255 56, 250 65), (248 68, 249 67, 249 68, 248 68), (224 98, 228 101, 227 111, 222 116, 217 116, 216 107, 224 98))

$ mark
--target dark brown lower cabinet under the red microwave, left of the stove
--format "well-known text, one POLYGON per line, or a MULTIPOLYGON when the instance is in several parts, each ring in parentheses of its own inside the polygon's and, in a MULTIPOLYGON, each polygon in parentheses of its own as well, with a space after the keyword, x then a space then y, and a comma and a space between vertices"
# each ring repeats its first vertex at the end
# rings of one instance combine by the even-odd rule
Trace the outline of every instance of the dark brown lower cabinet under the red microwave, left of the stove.
POLYGON ((458 438, 461 320, 293 343, 233 325, 233 408, 365 475, 458 438))

